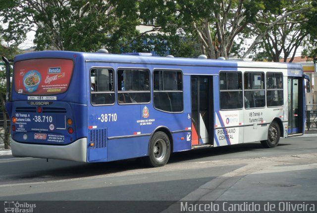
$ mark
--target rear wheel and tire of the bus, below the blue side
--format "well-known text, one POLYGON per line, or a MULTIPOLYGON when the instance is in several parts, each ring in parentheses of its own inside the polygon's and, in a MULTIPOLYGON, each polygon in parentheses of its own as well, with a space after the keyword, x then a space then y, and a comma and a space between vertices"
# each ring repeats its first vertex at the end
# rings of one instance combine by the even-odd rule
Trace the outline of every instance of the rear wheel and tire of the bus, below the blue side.
POLYGON ((163 166, 170 156, 170 142, 164 132, 156 132, 149 145, 149 156, 145 159, 151 167, 163 166))

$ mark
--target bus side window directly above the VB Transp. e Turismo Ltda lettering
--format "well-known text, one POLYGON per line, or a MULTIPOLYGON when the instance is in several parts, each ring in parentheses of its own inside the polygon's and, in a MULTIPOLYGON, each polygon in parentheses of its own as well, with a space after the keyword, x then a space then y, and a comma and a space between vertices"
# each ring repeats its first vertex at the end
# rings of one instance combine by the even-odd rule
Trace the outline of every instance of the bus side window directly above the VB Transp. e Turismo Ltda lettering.
POLYGON ((265 106, 264 73, 244 73, 244 106, 245 108, 265 106))

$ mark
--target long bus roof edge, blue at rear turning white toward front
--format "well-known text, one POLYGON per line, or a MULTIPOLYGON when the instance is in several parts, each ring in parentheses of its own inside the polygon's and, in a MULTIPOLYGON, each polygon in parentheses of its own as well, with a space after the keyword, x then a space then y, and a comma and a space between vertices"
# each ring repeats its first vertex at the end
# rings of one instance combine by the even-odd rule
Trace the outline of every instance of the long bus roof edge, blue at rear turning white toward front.
POLYGON ((109 63, 134 63, 134 64, 158 64, 158 65, 179 65, 195 67, 254 67, 254 68, 274 68, 274 69, 300 69, 301 64, 284 62, 255 62, 242 60, 217 60, 202 58, 179 58, 179 57, 160 57, 138 54, 110 54, 110 53, 82 53, 68 51, 41 51, 23 53, 16 55, 14 61, 27 60, 34 58, 69 58, 80 57, 86 62, 109 62, 109 63))

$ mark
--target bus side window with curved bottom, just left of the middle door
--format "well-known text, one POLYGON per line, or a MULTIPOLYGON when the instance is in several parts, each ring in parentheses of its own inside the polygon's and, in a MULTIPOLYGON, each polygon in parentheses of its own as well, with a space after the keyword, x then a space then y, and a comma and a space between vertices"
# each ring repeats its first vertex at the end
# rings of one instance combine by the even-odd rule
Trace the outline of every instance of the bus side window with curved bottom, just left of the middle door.
POLYGON ((183 111, 183 76, 181 71, 154 70, 153 104, 167 112, 183 111))

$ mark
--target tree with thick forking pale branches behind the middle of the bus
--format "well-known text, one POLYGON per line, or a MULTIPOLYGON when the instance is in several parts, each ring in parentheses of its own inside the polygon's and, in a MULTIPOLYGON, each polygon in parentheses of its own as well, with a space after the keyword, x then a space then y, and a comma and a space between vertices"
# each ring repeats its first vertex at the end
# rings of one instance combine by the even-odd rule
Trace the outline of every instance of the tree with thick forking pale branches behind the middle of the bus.
POLYGON ((237 45, 235 38, 260 9, 252 4, 250 0, 145 0, 140 10, 145 11, 143 20, 156 20, 155 30, 184 31, 199 41, 201 53, 228 58, 237 45))

